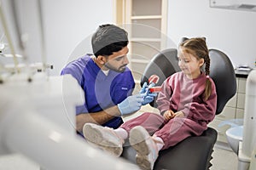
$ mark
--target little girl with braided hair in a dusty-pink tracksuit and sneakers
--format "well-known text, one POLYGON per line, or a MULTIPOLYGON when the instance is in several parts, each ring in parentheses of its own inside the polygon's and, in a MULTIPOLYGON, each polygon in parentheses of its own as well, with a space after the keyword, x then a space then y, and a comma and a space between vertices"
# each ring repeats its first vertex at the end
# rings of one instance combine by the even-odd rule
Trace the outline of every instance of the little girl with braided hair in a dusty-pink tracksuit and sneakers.
POLYGON ((129 137, 131 146, 137 150, 137 165, 153 169, 160 150, 191 135, 201 135, 213 120, 217 105, 205 38, 181 42, 177 58, 181 71, 166 78, 156 100, 160 115, 146 112, 115 130, 86 123, 84 138, 120 156, 124 139, 129 137))

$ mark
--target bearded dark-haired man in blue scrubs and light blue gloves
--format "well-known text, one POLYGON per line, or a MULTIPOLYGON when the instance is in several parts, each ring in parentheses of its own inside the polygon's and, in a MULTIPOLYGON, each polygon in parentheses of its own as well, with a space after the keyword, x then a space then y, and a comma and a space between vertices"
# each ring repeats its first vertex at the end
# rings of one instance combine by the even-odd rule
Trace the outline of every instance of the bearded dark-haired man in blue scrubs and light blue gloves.
POLYGON ((144 84, 140 94, 132 95, 135 82, 129 64, 127 32, 118 26, 99 26, 91 38, 93 54, 75 59, 61 71, 71 74, 84 90, 84 105, 76 107, 76 130, 83 135, 86 122, 103 127, 118 128, 122 117, 138 111, 154 99, 145 93, 144 84))

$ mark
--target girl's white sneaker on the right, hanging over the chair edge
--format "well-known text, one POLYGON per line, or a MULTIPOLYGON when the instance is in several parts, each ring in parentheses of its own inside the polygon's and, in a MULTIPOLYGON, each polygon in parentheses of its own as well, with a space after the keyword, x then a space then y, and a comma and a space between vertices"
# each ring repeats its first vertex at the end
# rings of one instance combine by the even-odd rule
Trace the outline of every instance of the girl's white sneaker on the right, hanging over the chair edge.
POLYGON ((147 130, 141 126, 133 127, 129 141, 134 150, 137 150, 137 165, 143 170, 153 169, 159 151, 147 130))

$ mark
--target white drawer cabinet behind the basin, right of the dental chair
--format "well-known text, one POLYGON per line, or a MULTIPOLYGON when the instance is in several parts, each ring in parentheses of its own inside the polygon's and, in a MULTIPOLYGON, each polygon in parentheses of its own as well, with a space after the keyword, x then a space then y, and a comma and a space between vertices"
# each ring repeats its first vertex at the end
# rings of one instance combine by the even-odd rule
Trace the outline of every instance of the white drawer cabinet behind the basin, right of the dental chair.
POLYGON ((209 123, 209 127, 213 127, 218 131, 218 141, 228 143, 226 139, 226 130, 230 128, 230 125, 225 124, 224 121, 230 119, 243 119, 244 105, 245 105, 245 93, 246 93, 246 77, 236 77, 236 94, 231 98, 218 116, 215 116, 214 120, 209 123))

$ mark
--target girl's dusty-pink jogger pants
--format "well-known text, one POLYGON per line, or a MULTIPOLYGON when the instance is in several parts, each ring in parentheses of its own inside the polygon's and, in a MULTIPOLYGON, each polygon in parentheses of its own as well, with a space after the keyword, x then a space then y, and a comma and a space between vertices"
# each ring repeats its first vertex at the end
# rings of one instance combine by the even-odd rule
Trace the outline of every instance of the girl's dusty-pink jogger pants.
POLYGON ((120 127, 129 133, 131 128, 136 126, 142 126, 150 135, 154 134, 160 137, 165 143, 162 150, 177 144, 191 135, 201 135, 207 129, 207 124, 201 125, 186 117, 175 117, 169 122, 165 122, 163 116, 149 112, 125 122, 120 127))

